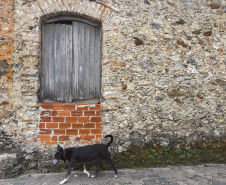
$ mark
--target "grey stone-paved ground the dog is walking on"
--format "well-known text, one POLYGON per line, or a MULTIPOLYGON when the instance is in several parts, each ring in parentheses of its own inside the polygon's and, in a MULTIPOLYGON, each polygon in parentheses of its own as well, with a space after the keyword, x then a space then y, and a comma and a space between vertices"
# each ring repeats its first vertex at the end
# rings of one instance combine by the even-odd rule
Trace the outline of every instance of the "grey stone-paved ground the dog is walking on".
MULTIPOLYGON (((64 179, 60 174, 30 174, 18 179, 0 180, 0 185, 56 185, 64 179)), ((206 164, 150 168, 145 170, 119 170, 118 178, 113 171, 100 171, 96 178, 88 178, 82 172, 73 172, 66 185, 226 185, 226 164, 206 164), (74 177, 77 174, 78 177, 74 177)))

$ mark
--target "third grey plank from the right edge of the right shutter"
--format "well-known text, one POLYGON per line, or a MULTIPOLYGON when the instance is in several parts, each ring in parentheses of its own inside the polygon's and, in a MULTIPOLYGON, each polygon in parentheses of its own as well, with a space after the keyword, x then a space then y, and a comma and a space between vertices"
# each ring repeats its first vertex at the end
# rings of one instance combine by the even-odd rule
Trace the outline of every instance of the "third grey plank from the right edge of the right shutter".
POLYGON ((89 29, 91 26, 84 24, 84 70, 83 70, 83 99, 89 99, 89 63, 90 63, 90 38, 89 29))

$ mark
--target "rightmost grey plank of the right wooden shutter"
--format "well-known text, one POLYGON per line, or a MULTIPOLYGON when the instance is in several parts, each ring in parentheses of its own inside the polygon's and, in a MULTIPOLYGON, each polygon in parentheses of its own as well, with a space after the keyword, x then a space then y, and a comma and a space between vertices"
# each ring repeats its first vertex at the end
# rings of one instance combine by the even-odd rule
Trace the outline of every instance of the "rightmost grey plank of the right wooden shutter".
POLYGON ((94 74, 95 98, 101 97, 101 32, 95 28, 95 74, 94 74))

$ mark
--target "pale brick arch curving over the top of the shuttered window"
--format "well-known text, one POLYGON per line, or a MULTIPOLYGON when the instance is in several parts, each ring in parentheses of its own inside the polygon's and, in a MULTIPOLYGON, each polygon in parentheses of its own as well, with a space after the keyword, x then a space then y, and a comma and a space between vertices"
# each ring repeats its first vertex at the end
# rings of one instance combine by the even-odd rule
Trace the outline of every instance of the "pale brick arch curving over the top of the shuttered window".
POLYGON ((32 13, 40 19, 46 15, 59 13, 75 14, 100 23, 106 23, 112 10, 89 0, 37 0, 30 3, 32 13))

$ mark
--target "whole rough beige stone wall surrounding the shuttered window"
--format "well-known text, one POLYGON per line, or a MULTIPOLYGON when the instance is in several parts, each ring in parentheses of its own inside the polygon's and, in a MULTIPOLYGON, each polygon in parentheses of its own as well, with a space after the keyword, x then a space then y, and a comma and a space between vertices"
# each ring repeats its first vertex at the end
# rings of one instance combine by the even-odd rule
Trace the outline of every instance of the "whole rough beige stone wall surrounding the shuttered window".
POLYGON ((49 125, 40 120, 38 96, 41 22, 78 15, 102 24, 102 135, 113 134, 118 151, 149 142, 224 140, 225 1, 105 2, 119 11, 88 0, 16 0, 13 12, 13 1, 1 1, 2 138, 10 137, 27 158, 34 151, 52 155, 55 145, 40 139, 40 127, 49 125))

